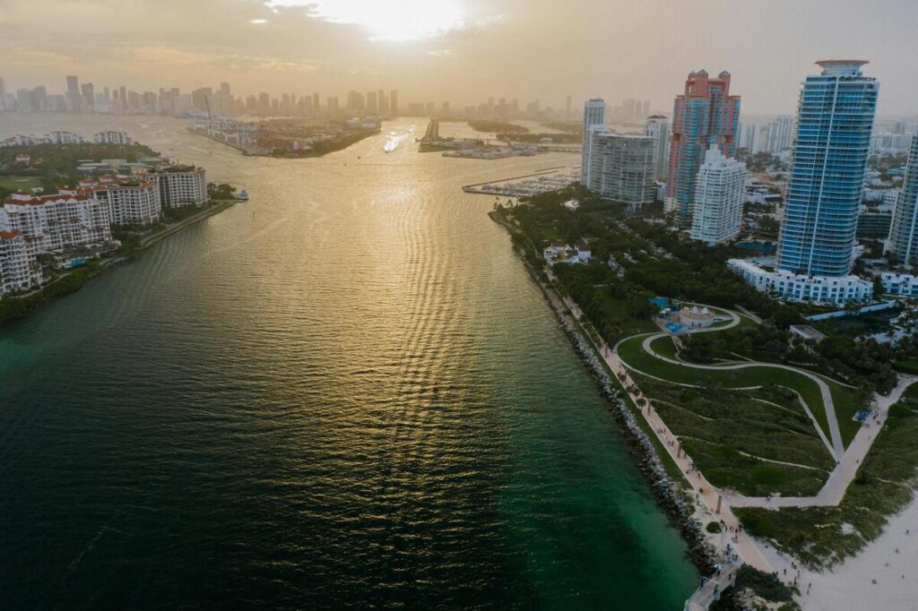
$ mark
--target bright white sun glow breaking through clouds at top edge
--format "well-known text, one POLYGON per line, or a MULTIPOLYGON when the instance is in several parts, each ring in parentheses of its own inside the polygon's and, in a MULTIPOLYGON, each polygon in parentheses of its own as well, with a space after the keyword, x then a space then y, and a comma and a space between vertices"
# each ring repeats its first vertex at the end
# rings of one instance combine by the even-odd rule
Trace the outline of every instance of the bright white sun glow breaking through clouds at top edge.
POLYGON ((272 0, 268 6, 308 6, 316 17, 360 26, 382 42, 430 39, 465 24, 459 0, 272 0))

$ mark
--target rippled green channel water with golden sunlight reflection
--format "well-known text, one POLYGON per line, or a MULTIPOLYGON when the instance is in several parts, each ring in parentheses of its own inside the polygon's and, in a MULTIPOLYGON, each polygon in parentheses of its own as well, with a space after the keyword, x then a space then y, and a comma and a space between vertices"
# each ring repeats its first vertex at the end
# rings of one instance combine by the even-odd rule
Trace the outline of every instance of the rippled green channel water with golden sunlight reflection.
MULTIPOLYGON (((112 125, 72 120, 0 133, 112 125)), ((681 608, 684 543, 459 189, 576 160, 118 121, 251 200, 0 329, 0 606, 681 608)))

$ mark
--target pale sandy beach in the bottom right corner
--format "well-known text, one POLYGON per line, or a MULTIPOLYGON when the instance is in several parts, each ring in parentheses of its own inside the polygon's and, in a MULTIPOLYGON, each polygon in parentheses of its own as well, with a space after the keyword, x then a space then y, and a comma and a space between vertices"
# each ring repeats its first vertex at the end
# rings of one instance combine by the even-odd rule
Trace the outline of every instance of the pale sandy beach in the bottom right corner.
POLYGON ((800 581, 802 593, 812 583, 810 594, 801 597, 808 611, 918 609, 918 501, 890 518, 879 539, 855 558, 832 572, 804 571, 800 581))

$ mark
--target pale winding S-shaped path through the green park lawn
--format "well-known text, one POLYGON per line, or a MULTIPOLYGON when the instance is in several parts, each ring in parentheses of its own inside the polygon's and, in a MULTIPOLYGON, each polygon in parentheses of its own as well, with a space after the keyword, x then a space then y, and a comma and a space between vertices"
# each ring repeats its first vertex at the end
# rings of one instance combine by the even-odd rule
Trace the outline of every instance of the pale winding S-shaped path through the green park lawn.
MULTIPOLYGON (((722 308, 712 307, 711 305, 707 305, 705 307, 709 307, 711 308, 711 310, 714 310, 717 312, 725 312, 731 317, 730 323, 727 325, 723 325, 721 327, 687 329, 684 333, 685 335, 693 335, 697 333, 711 333, 714 331, 724 331, 728 328, 733 328, 740 324, 740 317, 735 312, 731 312, 730 310, 723 310, 722 308)), ((633 367, 628 362, 621 359, 621 355, 619 354, 619 347, 621 346, 622 342, 628 341, 629 339, 633 339, 633 337, 634 336, 632 336, 631 338, 621 339, 621 341, 615 344, 615 347, 612 349, 612 351, 615 353, 615 356, 619 358, 619 360, 625 367, 635 372, 638 372, 638 373, 644 373, 640 369, 633 367)), ((673 365, 679 365, 681 367, 689 367, 692 369, 707 370, 707 371, 730 371, 730 370, 748 369, 750 367, 763 367, 763 368, 780 369, 780 370, 785 370, 788 372, 794 372, 794 373, 797 373, 799 375, 802 375, 812 380, 819 387, 819 392, 822 395, 823 411, 825 412, 825 419, 829 424, 829 435, 832 438, 832 453, 834 455, 833 458, 835 459, 835 461, 842 460, 842 456, 844 456, 845 454, 845 443, 842 441, 842 433, 841 433, 841 430, 838 428, 838 418, 835 416, 835 405, 832 401, 832 390, 829 388, 829 385, 825 383, 825 381, 820 376, 812 372, 807 372, 806 370, 798 369, 796 367, 791 367, 790 365, 782 365, 778 363, 763 363, 763 362, 753 361, 753 362, 742 362, 742 363, 721 364, 721 365, 699 365, 699 364, 691 363, 687 361, 670 359, 656 352, 651 346, 651 344, 656 339, 667 338, 667 337, 671 337, 671 335, 664 331, 649 335, 646 338, 644 338, 644 341, 641 344, 641 348, 642 350, 644 350, 644 352, 655 357, 656 359, 659 359, 660 361, 668 362, 673 365)), ((803 401, 802 397, 800 397, 800 401, 802 401, 803 404, 806 405, 806 402, 803 401)), ((812 407, 810 406, 807 406, 807 407, 808 407, 807 411, 810 417, 813 419, 813 423, 816 425, 817 430, 821 430, 821 428, 818 426, 818 423, 815 422, 815 418, 812 417, 812 407)))

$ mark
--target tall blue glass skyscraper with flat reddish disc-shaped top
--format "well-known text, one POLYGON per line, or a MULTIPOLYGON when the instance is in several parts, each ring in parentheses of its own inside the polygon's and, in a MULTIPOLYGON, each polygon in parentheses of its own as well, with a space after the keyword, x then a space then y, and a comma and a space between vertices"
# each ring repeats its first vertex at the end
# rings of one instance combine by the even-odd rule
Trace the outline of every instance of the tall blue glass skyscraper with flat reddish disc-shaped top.
POLYGON ((863 60, 816 62, 800 92, 793 164, 778 239, 778 268, 844 276, 854 261, 879 83, 863 60))

